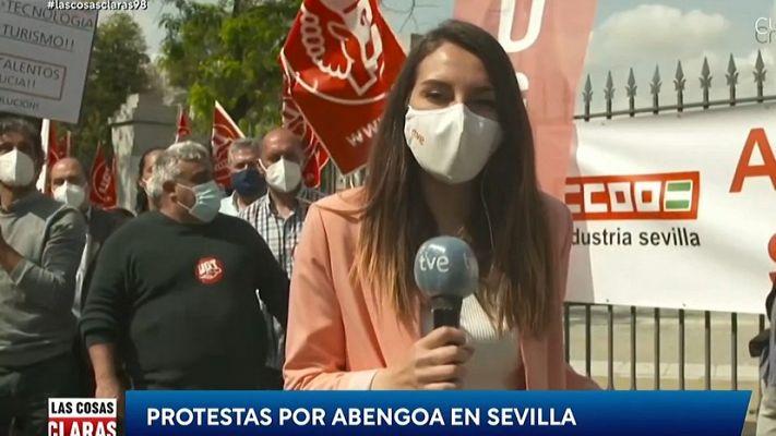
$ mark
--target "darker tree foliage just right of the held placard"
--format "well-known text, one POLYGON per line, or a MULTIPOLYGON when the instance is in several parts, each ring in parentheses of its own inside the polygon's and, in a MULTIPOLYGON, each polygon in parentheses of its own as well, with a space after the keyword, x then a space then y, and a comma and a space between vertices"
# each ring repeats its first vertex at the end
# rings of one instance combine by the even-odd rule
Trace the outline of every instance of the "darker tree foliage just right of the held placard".
MULTIPOLYGON (((110 145, 108 119, 131 94, 150 89, 150 59, 140 25, 127 13, 117 13, 97 27, 86 76, 81 119, 72 131, 74 155, 89 165, 97 143, 110 145)), ((64 144, 61 140, 60 144, 64 144)), ((110 147, 109 147, 110 148, 110 147)))

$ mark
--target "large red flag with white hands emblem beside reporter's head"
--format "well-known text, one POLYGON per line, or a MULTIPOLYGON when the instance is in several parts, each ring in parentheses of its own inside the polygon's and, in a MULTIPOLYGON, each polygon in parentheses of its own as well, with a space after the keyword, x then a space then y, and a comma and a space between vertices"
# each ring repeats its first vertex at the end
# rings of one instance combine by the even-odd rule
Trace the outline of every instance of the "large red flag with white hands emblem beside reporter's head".
POLYGON ((367 162, 404 50, 378 0, 305 0, 280 51, 290 96, 347 174, 367 162))

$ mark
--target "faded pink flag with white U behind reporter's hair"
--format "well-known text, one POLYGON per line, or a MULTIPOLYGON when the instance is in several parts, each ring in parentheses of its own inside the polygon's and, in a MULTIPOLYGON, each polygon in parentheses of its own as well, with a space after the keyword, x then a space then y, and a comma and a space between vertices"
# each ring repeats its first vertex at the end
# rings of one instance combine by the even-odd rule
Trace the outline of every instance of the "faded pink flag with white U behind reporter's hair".
POLYGON ((541 187, 563 198, 574 102, 596 0, 455 0, 455 17, 496 36, 528 106, 541 187))

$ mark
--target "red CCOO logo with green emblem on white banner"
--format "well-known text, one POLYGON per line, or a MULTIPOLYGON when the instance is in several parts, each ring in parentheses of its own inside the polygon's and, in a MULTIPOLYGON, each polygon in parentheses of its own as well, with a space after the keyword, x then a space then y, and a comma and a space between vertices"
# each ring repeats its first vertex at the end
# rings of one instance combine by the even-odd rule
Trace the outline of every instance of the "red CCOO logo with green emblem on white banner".
POLYGON ((697 219, 701 173, 568 178, 565 204, 575 221, 697 219))

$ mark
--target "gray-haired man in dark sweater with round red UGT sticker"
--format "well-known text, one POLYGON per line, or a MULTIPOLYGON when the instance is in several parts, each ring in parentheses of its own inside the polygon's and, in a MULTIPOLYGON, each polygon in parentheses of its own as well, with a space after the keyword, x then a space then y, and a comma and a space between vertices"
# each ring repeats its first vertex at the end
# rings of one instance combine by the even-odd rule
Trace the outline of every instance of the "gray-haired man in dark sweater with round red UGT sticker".
POLYGON ((288 279, 244 221, 218 213, 207 150, 177 143, 154 164, 158 210, 107 241, 81 331, 98 398, 122 399, 117 362, 134 389, 262 389, 265 324, 255 290, 284 326, 288 279))

